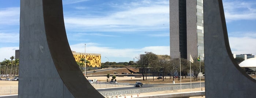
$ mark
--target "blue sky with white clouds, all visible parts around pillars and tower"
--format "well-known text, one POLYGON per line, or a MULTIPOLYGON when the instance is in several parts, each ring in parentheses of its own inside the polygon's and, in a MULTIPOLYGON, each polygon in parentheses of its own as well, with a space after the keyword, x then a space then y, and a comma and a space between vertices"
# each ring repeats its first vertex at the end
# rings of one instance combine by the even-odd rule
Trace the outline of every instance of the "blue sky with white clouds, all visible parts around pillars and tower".
MULTIPOLYGON (((62 0, 71 50, 101 54, 101 63, 170 55, 169 0, 62 0)), ((255 0, 223 0, 234 54, 256 55, 255 0)), ((0 0, 0 61, 19 49, 20 0, 0 0)))

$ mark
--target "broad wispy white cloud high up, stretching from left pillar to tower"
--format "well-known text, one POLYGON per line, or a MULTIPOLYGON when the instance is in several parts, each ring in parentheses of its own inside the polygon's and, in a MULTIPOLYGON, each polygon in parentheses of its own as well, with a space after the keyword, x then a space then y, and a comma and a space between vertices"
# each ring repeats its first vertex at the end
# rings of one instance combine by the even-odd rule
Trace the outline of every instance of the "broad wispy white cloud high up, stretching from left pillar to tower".
POLYGON ((169 5, 128 8, 104 16, 64 16, 64 20, 68 29, 82 31, 168 30, 169 5))

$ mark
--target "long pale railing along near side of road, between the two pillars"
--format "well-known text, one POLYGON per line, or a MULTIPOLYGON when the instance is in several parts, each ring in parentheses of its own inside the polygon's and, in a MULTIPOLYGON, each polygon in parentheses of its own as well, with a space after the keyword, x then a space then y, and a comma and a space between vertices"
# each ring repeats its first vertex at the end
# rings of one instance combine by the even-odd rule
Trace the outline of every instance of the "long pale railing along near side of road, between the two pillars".
MULTIPOLYGON (((204 87, 204 84, 201 84, 201 87, 204 87)), ((107 97, 113 95, 124 95, 124 94, 139 94, 146 92, 154 91, 166 91, 166 90, 180 90, 180 89, 189 89, 190 85, 185 86, 170 86, 170 87, 153 87, 153 88, 140 88, 140 89, 129 89, 129 90, 119 90, 119 91, 101 91, 100 94, 107 97)), ((192 88, 200 88, 200 84, 192 85, 192 88)))

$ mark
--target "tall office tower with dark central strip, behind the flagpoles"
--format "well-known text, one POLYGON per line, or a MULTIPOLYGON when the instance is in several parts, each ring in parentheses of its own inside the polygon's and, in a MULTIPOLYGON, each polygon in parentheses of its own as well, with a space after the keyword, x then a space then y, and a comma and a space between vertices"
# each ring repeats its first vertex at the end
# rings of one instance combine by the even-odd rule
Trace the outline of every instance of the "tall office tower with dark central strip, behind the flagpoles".
POLYGON ((170 56, 204 58, 203 0, 170 0, 170 56))

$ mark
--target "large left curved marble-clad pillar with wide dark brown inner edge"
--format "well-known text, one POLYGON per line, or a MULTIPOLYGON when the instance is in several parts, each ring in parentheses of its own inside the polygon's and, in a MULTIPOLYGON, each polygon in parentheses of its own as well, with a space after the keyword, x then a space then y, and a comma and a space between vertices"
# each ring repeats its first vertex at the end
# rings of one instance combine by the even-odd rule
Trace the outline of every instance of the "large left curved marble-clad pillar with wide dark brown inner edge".
POLYGON ((62 0, 21 0, 19 98, 103 98, 71 53, 62 0))

